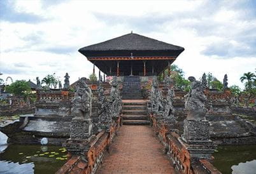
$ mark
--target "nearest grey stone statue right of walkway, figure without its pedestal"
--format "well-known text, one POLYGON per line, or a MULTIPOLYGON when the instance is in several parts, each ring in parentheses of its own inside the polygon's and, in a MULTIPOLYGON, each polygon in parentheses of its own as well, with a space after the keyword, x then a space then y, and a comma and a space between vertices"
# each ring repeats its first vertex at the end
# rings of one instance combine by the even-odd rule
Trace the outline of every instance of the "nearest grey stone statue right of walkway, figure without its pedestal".
POLYGON ((205 119, 207 112, 207 98, 203 93, 203 85, 200 81, 196 81, 195 77, 188 77, 191 82, 191 90, 185 96, 185 110, 188 111, 188 120, 201 121, 205 119))

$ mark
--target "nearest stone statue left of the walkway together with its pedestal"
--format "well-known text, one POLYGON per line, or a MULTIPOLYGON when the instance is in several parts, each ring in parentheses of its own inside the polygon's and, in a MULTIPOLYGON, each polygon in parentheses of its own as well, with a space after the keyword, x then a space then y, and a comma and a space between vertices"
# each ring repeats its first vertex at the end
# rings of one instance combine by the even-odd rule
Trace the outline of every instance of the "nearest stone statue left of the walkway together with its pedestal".
POLYGON ((63 146, 72 155, 83 156, 87 160, 92 138, 92 91, 87 86, 85 77, 76 84, 71 114, 75 117, 71 121, 70 138, 63 146))

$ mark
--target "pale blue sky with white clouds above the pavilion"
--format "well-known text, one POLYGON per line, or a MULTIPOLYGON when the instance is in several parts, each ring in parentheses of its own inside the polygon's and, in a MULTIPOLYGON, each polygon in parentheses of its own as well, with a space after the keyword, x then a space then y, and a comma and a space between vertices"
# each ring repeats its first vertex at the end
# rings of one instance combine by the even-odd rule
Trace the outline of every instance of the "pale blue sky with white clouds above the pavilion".
POLYGON ((229 85, 256 68, 256 1, 0 0, 0 72, 13 80, 66 72, 73 83, 92 64, 78 49, 128 34, 183 46, 185 76, 212 72, 229 85))

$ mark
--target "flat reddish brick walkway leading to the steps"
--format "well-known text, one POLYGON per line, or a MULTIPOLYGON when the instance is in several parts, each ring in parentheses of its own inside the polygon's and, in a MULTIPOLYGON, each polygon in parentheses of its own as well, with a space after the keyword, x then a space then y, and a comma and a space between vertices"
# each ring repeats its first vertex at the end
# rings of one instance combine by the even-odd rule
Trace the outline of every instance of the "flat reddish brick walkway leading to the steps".
POLYGON ((150 126, 122 126, 97 174, 174 173, 162 149, 150 126))

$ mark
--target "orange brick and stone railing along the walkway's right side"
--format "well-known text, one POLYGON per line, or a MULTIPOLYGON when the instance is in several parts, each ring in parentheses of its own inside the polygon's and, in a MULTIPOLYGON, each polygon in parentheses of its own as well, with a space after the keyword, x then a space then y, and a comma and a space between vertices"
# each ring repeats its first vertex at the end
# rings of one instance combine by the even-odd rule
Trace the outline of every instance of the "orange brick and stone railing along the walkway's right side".
POLYGON ((157 119, 157 114, 150 114, 153 130, 157 133, 164 151, 178 173, 220 173, 203 156, 195 158, 188 150, 187 144, 181 140, 178 130, 171 131, 169 125, 157 119))

